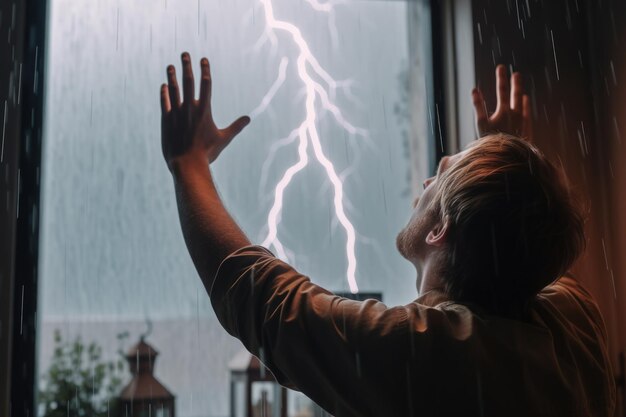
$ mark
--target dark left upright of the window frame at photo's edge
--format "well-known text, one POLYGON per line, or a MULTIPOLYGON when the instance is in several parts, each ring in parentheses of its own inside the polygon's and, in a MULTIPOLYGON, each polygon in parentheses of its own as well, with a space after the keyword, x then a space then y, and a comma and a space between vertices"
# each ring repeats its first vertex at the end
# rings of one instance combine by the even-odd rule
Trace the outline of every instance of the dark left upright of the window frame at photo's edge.
POLYGON ((14 68, 7 71, 3 66, 0 74, 2 84, 9 85, 9 91, 2 91, 8 103, 5 104, 5 120, 9 126, 8 136, 3 137, 7 148, 2 163, 9 216, 3 218, 2 228, 9 232, 3 233, 1 238, 2 276, 8 279, 0 279, 3 294, 0 354, 6 366, 6 372, 0 373, 0 413, 36 415, 39 173, 47 1, 13 2, 10 9, 2 12, 8 16, 3 21, 11 22, 9 39, 12 41, 3 46, 2 54, 9 58, 3 62, 14 68), (11 117, 6 117, 8 113, 12 113, 11 117), (8 300, 4 294, 8 295, 8 300), (25 389, 27 387, 31 389, 25 389))

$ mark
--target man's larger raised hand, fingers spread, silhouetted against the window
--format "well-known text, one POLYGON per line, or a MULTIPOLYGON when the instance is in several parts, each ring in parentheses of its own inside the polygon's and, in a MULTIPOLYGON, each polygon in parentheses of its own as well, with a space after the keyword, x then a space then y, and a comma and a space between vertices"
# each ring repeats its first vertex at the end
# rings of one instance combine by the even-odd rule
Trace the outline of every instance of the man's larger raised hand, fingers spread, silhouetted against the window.
POLYGON ((191 57, 181 55, 183 97, 173 65, 167 67, 167 84, 161 85, 161 146, 163 157, 172 171, 178 163, 196 160, 209 164, 241 130, 250 123, 242 116, 225 129, 219 129, 211 114, 211 70, 209 61, 200 61, 202 78, 200 97, 195 99, 191 57))

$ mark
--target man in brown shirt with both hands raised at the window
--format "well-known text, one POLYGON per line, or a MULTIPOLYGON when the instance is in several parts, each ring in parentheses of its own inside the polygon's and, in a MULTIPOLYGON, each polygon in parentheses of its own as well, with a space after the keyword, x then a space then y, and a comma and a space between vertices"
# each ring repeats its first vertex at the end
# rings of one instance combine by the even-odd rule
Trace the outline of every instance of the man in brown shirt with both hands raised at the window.
MULTIPOLYGON (((611 416, 606 332, 591 296, 563 276, 582 218, 550 162, 524 140, 487 135, 426 180, 398 249, 421 296, 387 307, 314 285, 251 246, 209 164, 249 123, 216 127, 209 62, 195 100, 182 55, 161 87, 163 154, 187 247, 224 328, 283 385, 342 416, 611 416)), ((497 69, 498 108, 473 92, 481 134, 529 135, 519 74, 497 69)))

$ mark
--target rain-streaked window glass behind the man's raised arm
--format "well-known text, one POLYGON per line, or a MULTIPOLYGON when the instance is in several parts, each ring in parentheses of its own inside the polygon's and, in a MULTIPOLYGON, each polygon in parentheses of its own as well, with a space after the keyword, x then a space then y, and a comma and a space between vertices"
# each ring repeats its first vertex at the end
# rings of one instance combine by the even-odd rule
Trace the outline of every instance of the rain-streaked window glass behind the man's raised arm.
MULTIPOLYGON (((132 358, 124 355, 143 338, 153 349, 152 376, 163 401, 171 395, 175 402, 172 415, 230 415, 231 372, 241 368, 233 358, 242 346, 216 321, 183 241, 160 148, 159 87, 167 64, 180 73, 182 51, 191 54, 196 81, 206 56, 218 125, 252 116, 212 169, 228 209, 253 242, 263 243, 276 187, 298 162, 298 138, 291 133, 307 116, 306 77, 297 65, 302 44, 271 30, 270 6, 275 19, 299 30, 311 54, 306 71, 321 89, 315 126, 356 231, 359 289, 382 293, 388 304, 416 297, 415 272, 395 249, 414 192, 409 50, 422 42, 409 37, 407 3, 51 0, 39 265, 41 414, 45 401, 70 407, 70 415, 89 404, 95 411, 131 407, 123 401, 132 389, 132 358), (72 354, 78 365, 69 361, 72 354), (72 380, 84 396, 56 384, 62 377, 54 370, 64 367, 85 371, 72 380)), ((269 249, 314 282, 346 292, 352 249, 338 220, 335 178, 312 146, 308 158, 285 188, 276 222, 280 246, 269 249)), ((245 385, 233 386, 234 401, 244 401, 245 385)), ((291 415, 313 413, 299 395, 288 399, 291 415)), ((237 415, 243 415, 240 406, 237 415)))

